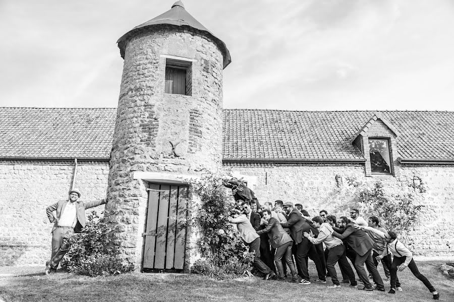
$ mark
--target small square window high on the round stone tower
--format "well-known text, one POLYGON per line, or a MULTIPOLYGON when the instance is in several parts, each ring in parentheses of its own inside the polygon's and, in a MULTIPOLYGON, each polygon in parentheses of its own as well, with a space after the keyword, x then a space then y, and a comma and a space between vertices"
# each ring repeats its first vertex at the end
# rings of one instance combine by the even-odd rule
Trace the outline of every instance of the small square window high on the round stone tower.
POLYGON ((164 92, 192 95, 192 62, 166 58, 164 92))

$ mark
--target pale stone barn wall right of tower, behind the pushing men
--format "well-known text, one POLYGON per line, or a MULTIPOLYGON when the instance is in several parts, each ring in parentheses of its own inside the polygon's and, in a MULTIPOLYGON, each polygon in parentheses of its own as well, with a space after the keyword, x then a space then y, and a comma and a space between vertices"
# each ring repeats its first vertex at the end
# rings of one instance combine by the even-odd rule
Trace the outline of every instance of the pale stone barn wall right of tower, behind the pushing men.
POLYGON ((336 216, 346 215, 353 206, 346 177, 355 177, 367 182, 381 180, 387 190, 409 190, 414 175, 422 179, 427 191, 423 194, 426 205, 420 222, 410 235, 414 242, 413 252, 424 256, 454 256, 454 166, 401 165, 400 177, 365 176, 364 165, 287 165, 287 166, 224 166, 226 171, 251 176, 253 190, 260 203, 266 201, 292 201, 301 203, 311 215, 326 209, 336 216), (343 182, 337 187, 335 176, 343 182))

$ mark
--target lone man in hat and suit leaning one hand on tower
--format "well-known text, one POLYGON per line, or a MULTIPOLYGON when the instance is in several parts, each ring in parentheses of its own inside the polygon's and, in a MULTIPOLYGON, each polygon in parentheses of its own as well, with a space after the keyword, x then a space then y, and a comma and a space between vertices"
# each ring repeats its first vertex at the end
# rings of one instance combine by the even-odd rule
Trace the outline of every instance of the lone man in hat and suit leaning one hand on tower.
POLYGON ((69 239, 74 233, 79 233, 85 227, 85 209, 105 203, 105 199, 89 202, 78 201, 81 193, 78 189, 70 191, 69 200, 60 200, 46 208, 47 217, 53 223, 52 228, 52 255, 46 264, 45 274, 56 270, 60 261, 70 248, 69 239), (53 216, 56 211, 56 218, 53 216))

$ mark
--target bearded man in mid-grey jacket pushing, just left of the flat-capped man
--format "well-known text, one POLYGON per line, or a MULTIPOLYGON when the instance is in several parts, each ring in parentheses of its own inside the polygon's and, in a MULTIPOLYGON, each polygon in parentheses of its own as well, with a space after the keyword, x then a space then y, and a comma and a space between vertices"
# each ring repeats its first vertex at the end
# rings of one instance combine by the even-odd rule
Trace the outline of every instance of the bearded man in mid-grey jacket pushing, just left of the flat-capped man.
POLYGON ((271 246, 275 250, 274 261, 276 263, 279 280, 286 280, 286 274, 282 265, 282 257, 284 257, 286 264, 289 266, 290 272, 292 273, 293 282, 298 282, 298 274, 295 271, 295 266, 292 260, 292 238, 282 228, 277 219, 271 217, 270 210, 263 210, 262 213, 263 219, 266 220, 268 224, 265 229, 257 231, 257 234, 269 237, 271 246))

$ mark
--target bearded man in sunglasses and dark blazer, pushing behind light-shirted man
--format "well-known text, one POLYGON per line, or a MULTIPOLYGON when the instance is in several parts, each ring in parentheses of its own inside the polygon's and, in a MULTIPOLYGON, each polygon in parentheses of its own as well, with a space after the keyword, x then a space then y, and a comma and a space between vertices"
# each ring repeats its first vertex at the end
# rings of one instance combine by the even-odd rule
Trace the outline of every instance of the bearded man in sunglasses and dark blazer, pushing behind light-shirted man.
POLYGON ((372 247, 373 242, 367 235, 364 230, 357 230, 353 227, 354 223, 342 216, 337 220, 339 222, 339 227, 344 227, 344 233, 339 234, 335 231, 332 231, 332 236, 337 237, 341 240, 345 240, 349 246, 356 252, 354 266, 356 272, 360 277, 361 281, 364 283, 365 290, 373 290, 372 284, 369 282, 369 277, 364 269, 364 264, 366 264, 367 270, 372 274, 372 277, 377 284, 376 289, 384 291, 383 280, 378 273, 377 268, 374 265, 372 260, 372 247))

